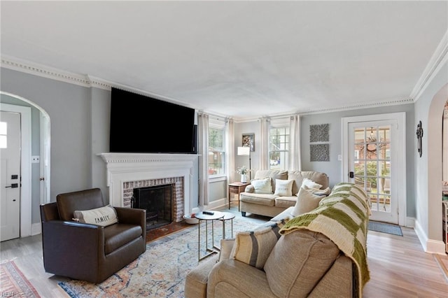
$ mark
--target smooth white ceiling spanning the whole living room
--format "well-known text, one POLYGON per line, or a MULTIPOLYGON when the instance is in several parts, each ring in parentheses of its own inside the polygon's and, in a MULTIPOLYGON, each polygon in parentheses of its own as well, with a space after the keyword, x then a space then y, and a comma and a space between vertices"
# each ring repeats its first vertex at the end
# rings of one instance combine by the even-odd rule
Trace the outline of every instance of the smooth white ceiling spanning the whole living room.
POLYGON ((402 101, 448 1, 1 1, 1 55, 251 118, 402 101))

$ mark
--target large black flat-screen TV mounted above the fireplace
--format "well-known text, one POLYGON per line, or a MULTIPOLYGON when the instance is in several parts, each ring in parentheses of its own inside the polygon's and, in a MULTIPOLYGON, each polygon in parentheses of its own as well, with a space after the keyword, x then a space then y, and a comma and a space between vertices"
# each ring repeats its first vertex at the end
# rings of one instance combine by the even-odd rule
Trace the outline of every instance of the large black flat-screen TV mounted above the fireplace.
POLYGON ((110 129, 110 152, 197 152, 194 108, 114 87, 110 129))

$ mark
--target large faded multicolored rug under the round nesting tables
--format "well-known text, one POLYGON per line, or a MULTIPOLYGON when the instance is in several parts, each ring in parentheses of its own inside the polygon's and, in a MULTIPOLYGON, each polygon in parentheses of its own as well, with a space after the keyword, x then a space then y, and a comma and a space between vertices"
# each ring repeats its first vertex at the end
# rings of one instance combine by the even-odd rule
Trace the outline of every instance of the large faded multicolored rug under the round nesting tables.
MULTIPOLYGON (((246 231, 257 224, 235 218, 233 232, 246 231)), ((225 222, 230 238, 230 221, 225 222)), ((209 223, 209 246, 211 224, 209 223)), ((215 245, 222 238, 222 223, 214 222, 215 245)), ((201 255, 206 254, 205 223, 201 225, 201 255)), ((207 260, 208 258, 204 259, 207 260)), ((201 261, 204 262, 204 261, 201 261)), ((106 281, 94 284, 86 281, 61 282, 59 286, 73 298, 81 297, 183 297, 185 278, 198 265, 198 226, 169 234, 147 243, 146 252, 106 281)))

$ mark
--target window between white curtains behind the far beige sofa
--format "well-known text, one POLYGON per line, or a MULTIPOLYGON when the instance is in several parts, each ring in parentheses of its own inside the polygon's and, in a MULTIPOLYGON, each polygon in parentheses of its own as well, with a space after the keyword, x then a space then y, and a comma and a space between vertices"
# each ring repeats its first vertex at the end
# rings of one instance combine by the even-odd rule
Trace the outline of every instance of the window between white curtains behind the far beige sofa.
POLYGON ((289 123, 271 120, 269 128, 269 169, 288 169, 289 123))

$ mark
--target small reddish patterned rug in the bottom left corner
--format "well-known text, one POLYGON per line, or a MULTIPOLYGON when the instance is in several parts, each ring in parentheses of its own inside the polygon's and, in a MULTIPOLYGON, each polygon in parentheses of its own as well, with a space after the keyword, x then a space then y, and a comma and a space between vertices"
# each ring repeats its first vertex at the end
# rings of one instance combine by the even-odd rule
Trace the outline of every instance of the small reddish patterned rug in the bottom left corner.
POLYGON ((41 297, 14 261, 4 261, 0 264, 0 285, 1 297, 41 297))

